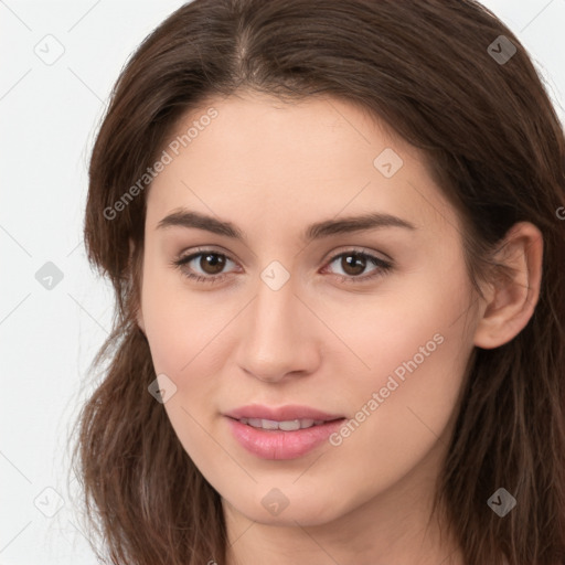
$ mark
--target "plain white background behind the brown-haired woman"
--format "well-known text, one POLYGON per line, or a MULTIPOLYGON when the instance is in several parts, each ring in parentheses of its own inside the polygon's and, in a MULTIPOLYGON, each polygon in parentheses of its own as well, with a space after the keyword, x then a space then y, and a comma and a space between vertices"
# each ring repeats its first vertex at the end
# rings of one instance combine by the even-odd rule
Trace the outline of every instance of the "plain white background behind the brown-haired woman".
MULTIPOLYGON (((0 565, 95 563, 66 486, 70 423, 114 307, 82 243, 87 160, 120 68, 181 3, 0 0, 0 565), (51 65, 34 52, 46 41, 64 49, 51 65), (35 278, 46 262, 63 274, 51 290, 35 278)), ((482 3, 529 50, 564 120, 565 0, 482 3)))

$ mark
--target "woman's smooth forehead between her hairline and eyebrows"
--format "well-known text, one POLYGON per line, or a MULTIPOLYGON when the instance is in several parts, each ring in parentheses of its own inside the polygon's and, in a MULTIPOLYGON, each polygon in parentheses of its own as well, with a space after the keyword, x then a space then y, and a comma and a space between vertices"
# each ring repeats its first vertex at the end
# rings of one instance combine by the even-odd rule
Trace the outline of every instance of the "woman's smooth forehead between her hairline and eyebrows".
POLYGON ((373 211, 416 225, 457 221, 418 151, 347 100, 211 98, 167 143, 150 226, 180 206, 265 230, 373 211))

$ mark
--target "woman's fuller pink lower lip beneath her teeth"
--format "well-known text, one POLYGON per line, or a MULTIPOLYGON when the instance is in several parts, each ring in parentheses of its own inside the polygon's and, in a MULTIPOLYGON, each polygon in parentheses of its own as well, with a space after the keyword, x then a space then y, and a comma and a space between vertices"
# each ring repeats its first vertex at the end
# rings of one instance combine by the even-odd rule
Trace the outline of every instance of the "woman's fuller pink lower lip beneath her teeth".
POLYGON ((344 418, 310 428, 284 431, 265 430, 227 418, 232 434, 247 451, 263 459, 296 459, 323 444, 343 424, 344 418))

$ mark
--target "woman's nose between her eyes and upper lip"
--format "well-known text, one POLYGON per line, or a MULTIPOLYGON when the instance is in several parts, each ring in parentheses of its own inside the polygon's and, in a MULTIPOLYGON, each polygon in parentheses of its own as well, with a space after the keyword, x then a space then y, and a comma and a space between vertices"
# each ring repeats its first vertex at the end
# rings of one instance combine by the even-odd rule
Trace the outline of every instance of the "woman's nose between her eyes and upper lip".
POLYGON ((320 321, 298 297, 291 280, 278 290, 260 280, 241 318, 237 364, 259 381, 306 376, 320 362, 320 321))

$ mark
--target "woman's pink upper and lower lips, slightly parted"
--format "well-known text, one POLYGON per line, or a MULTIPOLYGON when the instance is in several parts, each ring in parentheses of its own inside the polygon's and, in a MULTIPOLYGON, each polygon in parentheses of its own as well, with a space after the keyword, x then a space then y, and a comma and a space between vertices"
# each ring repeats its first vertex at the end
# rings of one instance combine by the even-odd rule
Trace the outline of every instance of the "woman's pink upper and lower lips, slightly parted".
POLYGON ((243 406, 224 414, 230 430, 238 444, 248 452, 262 459, 296 459, 316 449, 337 431, 345 417, 328 414, 308 406, 243 406), (239 418, 274 420, 315 419, 323 424, 309 428, 285 431, 255 428, 239 422, 239 418))

